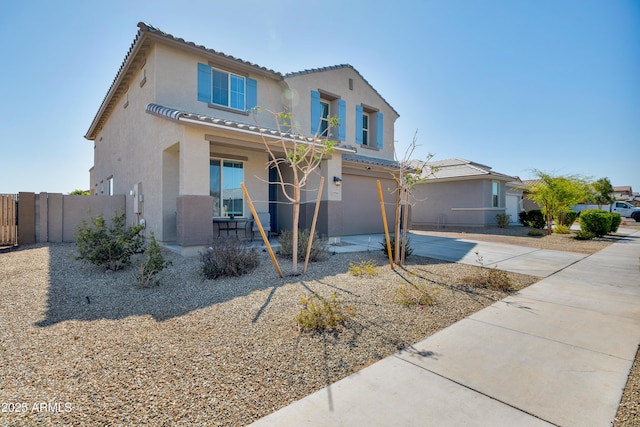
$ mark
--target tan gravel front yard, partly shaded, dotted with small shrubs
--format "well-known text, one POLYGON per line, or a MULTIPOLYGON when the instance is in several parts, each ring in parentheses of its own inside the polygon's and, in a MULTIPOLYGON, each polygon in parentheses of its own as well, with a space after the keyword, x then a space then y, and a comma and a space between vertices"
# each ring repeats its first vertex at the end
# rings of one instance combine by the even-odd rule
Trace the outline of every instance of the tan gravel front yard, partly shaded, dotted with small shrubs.
MULTIPOLYGON (((506 296, 462 284, 478 267, 415 257, 396 273, 379 251, 334 255, 286 279, 263 253, 251 274, 216 281, 200 278, 197 258, 168 253, 173 266, 149 289, 134 284, 134 268, 104 272, 74 252, 0 254, 0 425, 246 425, 506 296), (375 259, 378 276, 349 274, 360 259, 375 259), (436 304, 397 304, 406 279, 436 304), (339 333, 298 332, 300 297, 312 292, 335 292, 356 317, 339 333)), ((519 288, 538 280, 510 277, 519 288)), ((637 365, 618 413, 632 423, 637 365)))

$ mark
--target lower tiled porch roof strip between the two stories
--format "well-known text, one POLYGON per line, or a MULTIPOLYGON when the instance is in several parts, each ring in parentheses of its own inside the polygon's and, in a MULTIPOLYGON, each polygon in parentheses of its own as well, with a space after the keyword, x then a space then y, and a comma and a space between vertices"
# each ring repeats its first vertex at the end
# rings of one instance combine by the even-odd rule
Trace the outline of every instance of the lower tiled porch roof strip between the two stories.
MULTIPOLYGON (((304 143, 311 143, 314 140, 314 138, 312 137, 307 137, 300 134, 283 132, 282 135, 280 135, 278 130, 260 127, 256 124, 247 124, 247 123, 237 122, 234 120, 207 116, 204 114, 191 113, 188 111, 178 110, 176 108, 165 107, 163 105, 158 105, 153 103, 147 104, 145 110, 147 113, 152 114, 154 116, 173 120, 176 122, 195 123, 195 124, 202 124, 205 126, 238 130, 241 132, 251 133, 256 136, 265 135, 267 137, 274 137, 274 138, 280 138, 282 136, 286 140, 304 142, 304 143)), ((337 149, 343 152, 355 151, 352 147, 344 144, 338 144, 337 149)))

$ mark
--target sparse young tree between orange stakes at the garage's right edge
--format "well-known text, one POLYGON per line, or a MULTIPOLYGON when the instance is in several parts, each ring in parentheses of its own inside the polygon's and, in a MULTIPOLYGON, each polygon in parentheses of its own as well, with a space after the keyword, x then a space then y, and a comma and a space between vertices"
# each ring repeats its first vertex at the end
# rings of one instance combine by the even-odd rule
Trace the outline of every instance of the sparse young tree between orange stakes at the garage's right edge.
POLYGON ((397 166, 391 168, 391 176, 396 182, 396 216, 394 231, 394 262, 398 265, 404 264, 407 231, 409 221, 408 206, 414 206, 416 200, 413 196, 413 188, 416 184, 425 182, 429 176, 436 172, 436 168, 428 167, 427 163, 433 158, 433 154, 428 153, 425 160, 411 160, 413 153, 418 147, 418 131, 413 135, 413 140, 405 151, 402 160, 397 159, 397 166), (405 207, 403 210, 402 207, 405 207), (402 216, 402 220, 400 217, 402 216), (401 227, 402 224, 402 227, 401 227))

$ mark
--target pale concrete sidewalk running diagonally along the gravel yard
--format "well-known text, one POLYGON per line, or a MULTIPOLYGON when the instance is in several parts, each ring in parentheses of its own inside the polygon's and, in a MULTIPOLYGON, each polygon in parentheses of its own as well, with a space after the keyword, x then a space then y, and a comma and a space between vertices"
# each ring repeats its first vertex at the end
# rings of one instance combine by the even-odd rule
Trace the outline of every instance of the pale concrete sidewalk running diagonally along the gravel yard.
POLYGON ((639 257, 636 232, 253 425, 609 426, 640 343, 639 257))

